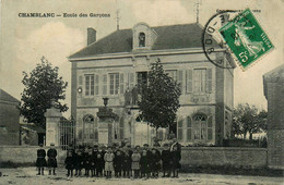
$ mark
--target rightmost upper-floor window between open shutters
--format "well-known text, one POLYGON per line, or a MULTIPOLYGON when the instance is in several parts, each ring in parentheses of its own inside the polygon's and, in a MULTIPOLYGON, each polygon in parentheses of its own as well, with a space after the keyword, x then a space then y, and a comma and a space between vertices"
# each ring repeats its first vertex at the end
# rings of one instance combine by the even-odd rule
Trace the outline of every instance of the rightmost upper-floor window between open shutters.
POLYGON ((193 70, 193 91, 194 92, 206 91, 206 69, 193 70))

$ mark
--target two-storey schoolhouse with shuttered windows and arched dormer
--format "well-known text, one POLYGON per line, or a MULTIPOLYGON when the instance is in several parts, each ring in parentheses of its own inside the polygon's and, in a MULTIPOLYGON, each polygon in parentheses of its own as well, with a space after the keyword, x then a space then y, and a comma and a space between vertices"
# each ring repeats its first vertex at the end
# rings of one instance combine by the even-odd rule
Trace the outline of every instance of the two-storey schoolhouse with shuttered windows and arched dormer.
MULTIPOLYGON (((113 125, 115 139, 127 139, 131 145, 140 144, 139 139, 141 144, 152 143, 155 132, 139 121, 138 97, 133 91, 139 82, 146 81, 151 63, 159 59, 165 72, 181 84, 175 131, 179 141, 222 145, 230 136, 235 66, 224 49, 217 50, 213 60, 230 63, 232 69, 216 67, 208 61, 200 42, 201 33, 198 24, 150 27, 141 23, 133 29, 117 30, 69 57, 71 113, 76 120, 78 141, 98 140, 96 114, 107 97, 108 107, 119 115, 113 125), (146 137, 138 139, 142 130, 146 137)), ((165 131, 156 137, 165 139, 165 131)))

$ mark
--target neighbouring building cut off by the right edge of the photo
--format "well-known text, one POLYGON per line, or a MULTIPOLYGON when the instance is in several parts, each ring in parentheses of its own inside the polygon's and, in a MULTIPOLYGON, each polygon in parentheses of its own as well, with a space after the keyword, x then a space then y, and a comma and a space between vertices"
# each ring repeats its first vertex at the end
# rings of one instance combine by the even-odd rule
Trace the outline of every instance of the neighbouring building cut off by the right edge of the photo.
POLYGON ((269 166, 284 169, 284 65, 264 74, 269 166))

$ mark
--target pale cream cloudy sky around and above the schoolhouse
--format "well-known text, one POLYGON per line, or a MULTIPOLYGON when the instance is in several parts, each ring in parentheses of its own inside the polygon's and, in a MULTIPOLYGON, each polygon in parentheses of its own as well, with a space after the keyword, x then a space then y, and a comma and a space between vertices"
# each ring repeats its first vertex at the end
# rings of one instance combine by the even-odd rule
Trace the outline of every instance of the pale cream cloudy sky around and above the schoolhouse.
MULTIPOLYGON (((71 102, 71 64, 68 57, 86 46, 86 28, 97 30, 97 39, 119 27, 132 28, 139 22, 150 26, 197 22, 198 0, 0 0, 0 88, 21 99, 22 72, 31 72, 40 58, 59 66, 69 83, 66 103, 71 102), (19 13, 55 13, 56 17, 20 17, 19 13), (63 17, 63 13, 78 17, 63 17), (105 13, 110 17, 79 17, 80 13, 105 13)), ((261 10, 255 13, 275 49, 246 70, 235 69, 234 102, 267 109, 262 75, 283 64, 283 0, 199 0, 199 23, 205 25, 216 10, 261 10)), ((70 110, 66 113, 70 115, 70 110)))

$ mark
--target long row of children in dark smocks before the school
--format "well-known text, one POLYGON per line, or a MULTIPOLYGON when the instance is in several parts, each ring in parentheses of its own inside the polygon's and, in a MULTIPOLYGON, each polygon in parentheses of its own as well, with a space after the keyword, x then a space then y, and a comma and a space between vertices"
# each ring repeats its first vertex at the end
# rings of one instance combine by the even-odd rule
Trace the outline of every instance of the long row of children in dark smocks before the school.
POLYGON ((163 170, 163 177, 178 177, 180 169, 180 147, 177 143, 164 145, 161 152, 156 147, 150 149, 149 145, 143 148, 137 146, 133 150, 131 146, 114 147, 103 146, 82 147, 68 149, 64 160, 67 176, 106 176, 110 178, 113 172, 115 177, 158 177, 158 172, 163 170), (161 165, 162 164, 162 165, 161 165))

